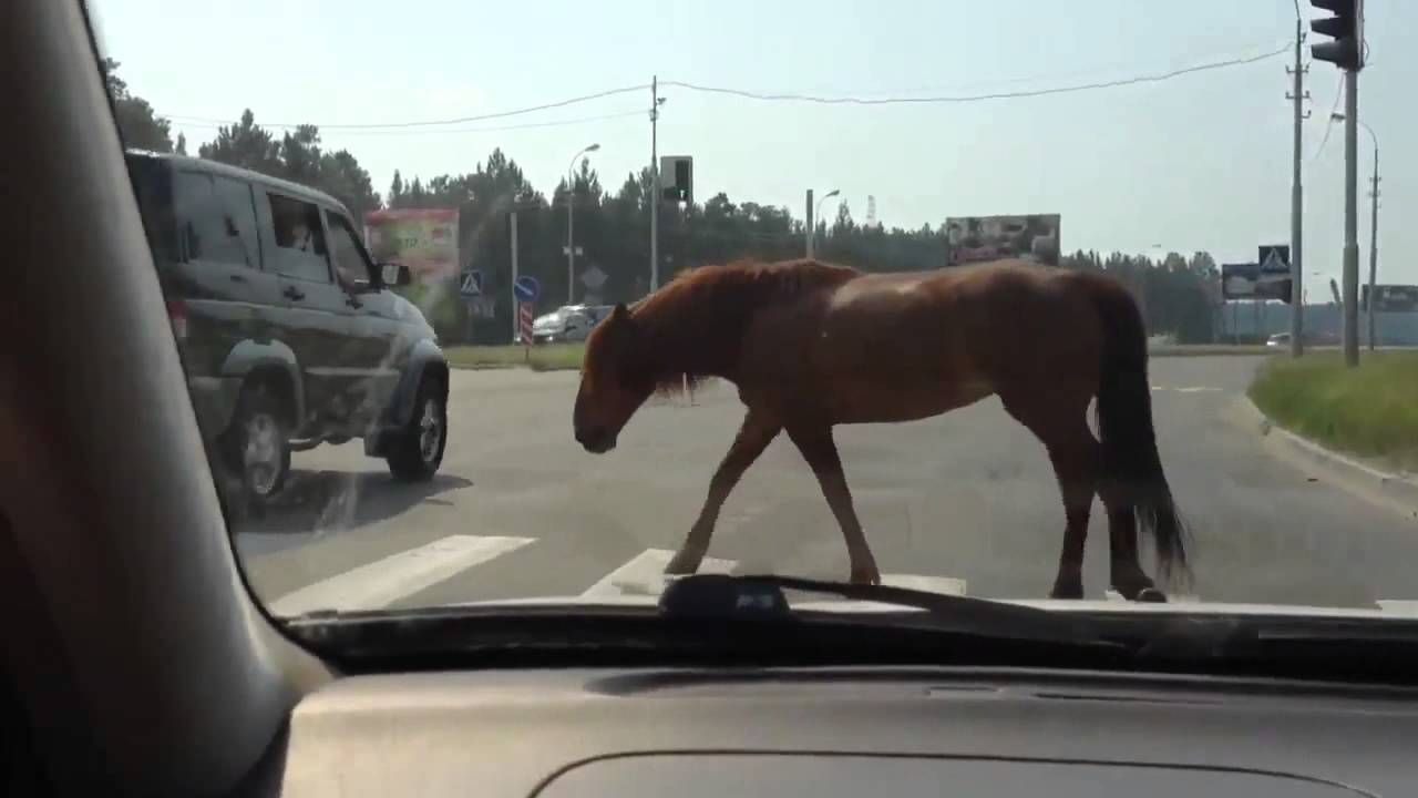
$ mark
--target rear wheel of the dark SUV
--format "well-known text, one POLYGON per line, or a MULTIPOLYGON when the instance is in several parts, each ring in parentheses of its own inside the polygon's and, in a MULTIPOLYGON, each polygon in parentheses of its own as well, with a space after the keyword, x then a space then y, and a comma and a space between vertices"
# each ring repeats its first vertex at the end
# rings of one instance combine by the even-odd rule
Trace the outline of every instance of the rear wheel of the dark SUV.
POLYGON ((285 403, 269 385, 244 385, 227 430, 227 461, 251 508, 259 511, 269 504, 291 476, 289 437, 285 403))

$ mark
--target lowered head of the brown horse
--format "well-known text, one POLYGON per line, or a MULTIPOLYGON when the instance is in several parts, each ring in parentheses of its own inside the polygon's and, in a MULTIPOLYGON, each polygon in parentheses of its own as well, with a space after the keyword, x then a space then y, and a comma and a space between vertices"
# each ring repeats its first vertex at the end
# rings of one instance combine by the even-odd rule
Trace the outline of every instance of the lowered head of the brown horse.
POLYGON ((576 442, 593 454, 615 449, 625 422, 655 390, 654 375, 640 362, 640 338, 635 319, 618 304, 586 339, 571 426, 576 442))

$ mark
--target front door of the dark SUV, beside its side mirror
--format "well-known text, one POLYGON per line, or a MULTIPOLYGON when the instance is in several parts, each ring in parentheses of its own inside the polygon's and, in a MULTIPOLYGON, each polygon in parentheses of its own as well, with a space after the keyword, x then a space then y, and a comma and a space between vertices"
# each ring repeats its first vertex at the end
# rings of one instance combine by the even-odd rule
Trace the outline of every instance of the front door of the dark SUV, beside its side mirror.
POLYGON ((398 375, 408 358, 408 342, 398 335, 393 293, 381 290, 374 263, 345 214, 325 210, 326 234, 335 256, 335 277, 346 291, 357 317, 359 362, 364 368, 357 385, 357 417, 370 422, 389 405, 398 375))

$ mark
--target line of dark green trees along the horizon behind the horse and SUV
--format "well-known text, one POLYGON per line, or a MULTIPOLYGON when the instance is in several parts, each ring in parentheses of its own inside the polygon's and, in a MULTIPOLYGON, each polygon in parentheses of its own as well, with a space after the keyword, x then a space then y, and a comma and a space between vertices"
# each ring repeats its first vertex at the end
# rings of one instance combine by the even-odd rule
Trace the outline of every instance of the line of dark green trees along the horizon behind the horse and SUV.
MULTIPOLYGON (((115 116, 125 146, 155 152, 187 153, 187 142, 172 138, 172 124, 133 94, 118 77, 119 64, 104 61, 115 116)), ((374 190, 369 172, 347 149, 330 151, 315 125, 281 133, 262 128, 247 108, 237 122, 223 125, 211 141, 197 146, 199 158, 252 169, 320 189, 340 200, 363 223, 377 209, 458 209, 462 268, 484 274, 484 290, 496 297, 492 318, 471 318, 458 298, 457 284, 437 287, 420 300, 445 341, 506 341, 510 335, 510 224, 518 216, 518 261, 523 274, 542 284, 539 312, 567 300, 566 206, 573 203, 576 268, 601 271, 598 301, 632 301, 649 288, 649 209, 659 214, 659 281, 683 268, 739 257, 781 260, 798 257, 805 247, 805 224, 788 209, 756 202, 733 202, 723 192, 685 206, 649 202, 651 173, 630 173, 615 192, 607 190, 587 162, 573 173, 571 185, 557 182, 550 196, 527 182, 516 160, 493 148, 485 160, 462 173, 406 177, 396 169, 387 193, 374 190)), ((817 223, 817 254, 868 271, 919 271, 944 264, 944 231, 923 224, 915 230, 864 224, 847 202, 832 220, 817 223)), ((1214 297, 1219 270, 1205 251, 1190 257, 1168 253, 1160 260, 1123 253, 1102 256, 1075 251, 1059 258, 1062 268, 1100 271, 1127 285, 1137 297, 1154 335, 1178 342, 1210 342, 1217 332, 1214 297)), ((580 280, 574 300, 587 290, 580 280)))

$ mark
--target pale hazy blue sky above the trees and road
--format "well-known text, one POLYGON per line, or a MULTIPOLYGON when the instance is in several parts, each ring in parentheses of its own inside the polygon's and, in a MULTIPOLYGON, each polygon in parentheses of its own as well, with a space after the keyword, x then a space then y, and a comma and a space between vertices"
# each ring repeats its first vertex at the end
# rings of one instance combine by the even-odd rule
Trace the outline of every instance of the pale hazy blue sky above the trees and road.
MULTIPOLYGON (((861 98, 1041 89, 1273 53, 1293 47, 1296 18, 1295 0, 91 0, 89 7, 99 47, 122 62, 119 75, 173 121, 174 136, 186 133, 191 152, 217 124, 251 108, 258 124, 320 125, 326 149, 353 152, 381 193, 394 169, 406 180, 472 172, 493 148, 550 193, 590 143, 601 145, 590 165, 614 192, 649 163, 651 91, 434 129, 330 125, 499 114, 642 87, 652 77, 861 98)), ((1322 14, 1303 1, 1300 13, 1306 30, 1322 14)), ((1418 3, 1367 3, 1360 119, 1387 142, 1380 283, 1418 284, 1409 257, 1418 226, 1401 223, 1418 209, 1418 156, 1402 146, 1414 136, 1418 104, 1401 99, 1412 97, 1418 78, 1418 51, 1404 35, 1415 30, 1418 3)), ((1285 68, 1292 62, 1285 50, 1161 82, 934 104, 764 102, 665 85, 658 151, 695 159, 699 202, 725 192, 801 217, 807 189, 818 197, 838 189, 858 222, 873 196, 888 227, 1059 213, 1066 251, 1207 250, 1221 263, 1254 261, 1259 244, 1290 239, 1285 68)), ((1329 122, 1340 85, 1333 64, 1310 64, 1305 271, 1324 283, 1340 274, 1344 237, 1344 131, 1329 122)), ((1371 169, 1373 143, 1360 129, 1364 264, 1371 169)), ((835 202, 822 206, 824 216, 835 214, 835 202)))

